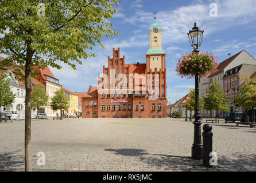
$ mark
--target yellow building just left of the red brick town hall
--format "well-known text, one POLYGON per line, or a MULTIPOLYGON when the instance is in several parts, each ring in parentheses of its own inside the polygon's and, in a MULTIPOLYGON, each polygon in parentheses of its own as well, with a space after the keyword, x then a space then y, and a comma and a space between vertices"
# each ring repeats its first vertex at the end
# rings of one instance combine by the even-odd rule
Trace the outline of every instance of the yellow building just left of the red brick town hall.
POLYGON ((78 95, 62 86, 65 96, 69 98, 69 109, 64 111, 64 116, 74 113, 78 115, 78 95))

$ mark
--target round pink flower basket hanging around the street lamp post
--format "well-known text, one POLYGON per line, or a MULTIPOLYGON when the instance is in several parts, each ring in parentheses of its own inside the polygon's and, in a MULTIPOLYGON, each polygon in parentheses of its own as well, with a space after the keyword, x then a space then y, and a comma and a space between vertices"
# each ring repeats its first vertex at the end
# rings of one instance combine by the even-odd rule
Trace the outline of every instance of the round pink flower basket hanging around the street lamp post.
POLYGON ((192 78, 198 74, 201 78, 210 73, 215 73, 219 65, 217 59, 214 53, 208 53, 207 51, 202 51, 199 54, 192 52, 181 55, 179 62, 176 63, 177 75, 180 75, 181 78, 192 78))

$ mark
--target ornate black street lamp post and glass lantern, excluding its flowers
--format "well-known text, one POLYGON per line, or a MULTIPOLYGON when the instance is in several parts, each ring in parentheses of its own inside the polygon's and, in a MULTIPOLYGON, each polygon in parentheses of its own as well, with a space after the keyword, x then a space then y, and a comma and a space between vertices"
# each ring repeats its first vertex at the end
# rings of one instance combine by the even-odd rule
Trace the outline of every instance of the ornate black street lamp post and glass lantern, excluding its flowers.
MULTIPOLYGON (((189 30, 188 38, 193 47, 193 52, 196 54, 199 53, 198 47, 201 46, 201 41, 203 38, 204 30, 200 30, 199 27, 195 26, 192 30, 189 30)), ((201 142, 201 114, 200 114, 200 106, 199 106, 199 87, 198 81, 199 75, 195 74, 195 121, 194 124, 194 142, 192 146, 192 158, 194 160, 201 160, 203 154, 202 142, 201 142)))

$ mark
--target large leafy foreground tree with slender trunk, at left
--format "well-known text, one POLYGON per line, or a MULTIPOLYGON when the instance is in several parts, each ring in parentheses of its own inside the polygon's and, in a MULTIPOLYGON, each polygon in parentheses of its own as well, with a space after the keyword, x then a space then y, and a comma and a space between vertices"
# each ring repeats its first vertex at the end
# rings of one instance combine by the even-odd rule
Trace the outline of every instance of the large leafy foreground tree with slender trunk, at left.
POLYGON ((81 58, 95 57, 93 46, 117 32, 107 21, 117 10, 116 0, 0 0, 0 67, 13 66, 25 80, 25 170, 32 171, 31 77, 60 62, 76 69, 81 58), (22 71, 25 70, 25 77, 22 71))

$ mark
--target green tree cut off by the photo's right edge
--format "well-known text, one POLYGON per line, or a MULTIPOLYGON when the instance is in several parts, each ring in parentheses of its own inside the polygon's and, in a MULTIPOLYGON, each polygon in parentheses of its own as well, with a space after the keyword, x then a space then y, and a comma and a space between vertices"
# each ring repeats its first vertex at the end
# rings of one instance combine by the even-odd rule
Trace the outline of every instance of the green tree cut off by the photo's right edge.
MULTIPOLYGON (((245 109, 254 109, 256 108, 256 102, 253 99, 254 94, 256 93, 256 77, 254 78, 250 78, 246 75, 242 75, 242 81, 244 81, 244 83, 242 84, 242 86, 239 87, 239 92, 238 94, 235 96, 234 99, 234 104, 235 105, 239 105, 242 108, 245 109)), ((254 116, 254 110, 251 110, 251 119, 253 120, 253 116, 254 116)))

